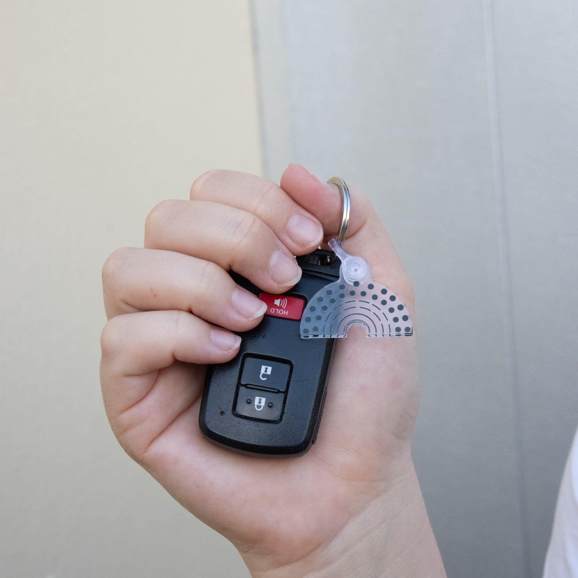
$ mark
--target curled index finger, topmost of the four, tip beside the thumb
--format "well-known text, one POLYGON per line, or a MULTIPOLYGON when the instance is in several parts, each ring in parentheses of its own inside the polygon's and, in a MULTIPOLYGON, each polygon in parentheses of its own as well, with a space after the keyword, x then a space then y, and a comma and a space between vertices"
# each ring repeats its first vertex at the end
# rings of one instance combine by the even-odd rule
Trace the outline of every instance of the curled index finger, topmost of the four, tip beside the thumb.
POLYGON ((236 171, 209 171, 191 187, 191 201, 212 201, 253 213, 294 255, 317 249, 323 227, 272 181, 236 171))

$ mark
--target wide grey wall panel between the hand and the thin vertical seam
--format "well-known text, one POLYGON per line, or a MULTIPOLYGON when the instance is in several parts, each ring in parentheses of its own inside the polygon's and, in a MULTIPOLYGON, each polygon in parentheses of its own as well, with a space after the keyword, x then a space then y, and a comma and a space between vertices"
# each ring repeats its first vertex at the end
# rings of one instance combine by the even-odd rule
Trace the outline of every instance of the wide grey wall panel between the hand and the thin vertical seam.
POLYGON ((368 191, 416 286, 415 457, 448 572, 523 576, 480 6, 287 7, 295 159, 368 191))

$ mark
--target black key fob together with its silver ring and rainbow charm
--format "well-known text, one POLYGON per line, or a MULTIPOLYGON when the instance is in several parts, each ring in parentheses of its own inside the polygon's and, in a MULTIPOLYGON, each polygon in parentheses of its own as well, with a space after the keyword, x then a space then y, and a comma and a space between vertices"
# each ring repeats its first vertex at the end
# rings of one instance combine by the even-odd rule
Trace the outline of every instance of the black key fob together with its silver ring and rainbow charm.
POLYGON ((352 325, 367 337, 410 336, 409 312, 398 295, 371 278, 369 263, 342 247, 349 223, 349 190, 332 177, 343 199, 333 251, 297 257, 301 280, 283 295, 264 293, 230 273, 266 302, 257 327, 242 334, 239 353, 210 365, 199 425, 218 444, 257 454, 299 455, 315 443, 325 402, 325 380, 335 338, 352 325))

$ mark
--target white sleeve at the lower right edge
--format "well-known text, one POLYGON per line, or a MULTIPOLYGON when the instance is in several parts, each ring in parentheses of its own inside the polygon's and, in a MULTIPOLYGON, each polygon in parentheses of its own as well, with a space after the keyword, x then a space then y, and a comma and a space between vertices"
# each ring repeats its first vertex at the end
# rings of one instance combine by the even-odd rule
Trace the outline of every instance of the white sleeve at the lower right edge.
POLYGON ((578 578, 578 432, 562 476, 544 578, 578 578))

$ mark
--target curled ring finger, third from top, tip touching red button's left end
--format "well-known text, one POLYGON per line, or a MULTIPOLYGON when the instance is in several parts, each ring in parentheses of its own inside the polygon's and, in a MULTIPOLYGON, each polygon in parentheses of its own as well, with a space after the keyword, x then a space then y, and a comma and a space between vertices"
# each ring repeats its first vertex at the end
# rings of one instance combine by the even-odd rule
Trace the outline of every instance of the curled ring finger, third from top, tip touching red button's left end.
POLYGON ((136 311, 181 310, 232 331, 248 331, 267 308, 220 266, 174 251, 118 249, 102 269, 102 284, 109 319, 136 311))

